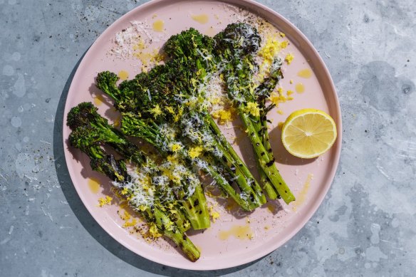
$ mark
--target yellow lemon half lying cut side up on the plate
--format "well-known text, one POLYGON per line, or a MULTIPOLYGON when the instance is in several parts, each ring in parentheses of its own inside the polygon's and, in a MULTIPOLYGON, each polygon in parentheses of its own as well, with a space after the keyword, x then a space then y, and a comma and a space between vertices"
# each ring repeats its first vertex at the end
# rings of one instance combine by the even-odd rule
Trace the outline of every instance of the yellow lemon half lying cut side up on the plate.
POLYGON ((288 116, 281 130, 281 140, 291 155, 303 159, 321 156, 336 141, 336 124, 322 110, 297 110, 288 116))

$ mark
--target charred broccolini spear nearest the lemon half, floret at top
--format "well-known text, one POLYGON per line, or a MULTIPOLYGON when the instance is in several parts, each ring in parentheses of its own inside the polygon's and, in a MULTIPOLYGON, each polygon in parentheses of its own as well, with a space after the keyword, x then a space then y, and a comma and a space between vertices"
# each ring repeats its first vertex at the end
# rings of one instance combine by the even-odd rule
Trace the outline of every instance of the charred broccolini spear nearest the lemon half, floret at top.
POLYGON ((260 167, 281 198, 288 204, 295 197, 276 168, 272 153, 267 155, 269 152, 262 137, 259 136, 260 129, 253 122, 253 118, 260 116, 260 107, 253 95, 251 74, 256 66, 254 55, 259 50, 261 38, 256 29, 249 24, 233 23, 218 33, 214 40, 216 41, 214 53, 219 60, 219 69, 225 75, 227 93, 249 132, 249 139, 254 152, 259 157, 260 167))

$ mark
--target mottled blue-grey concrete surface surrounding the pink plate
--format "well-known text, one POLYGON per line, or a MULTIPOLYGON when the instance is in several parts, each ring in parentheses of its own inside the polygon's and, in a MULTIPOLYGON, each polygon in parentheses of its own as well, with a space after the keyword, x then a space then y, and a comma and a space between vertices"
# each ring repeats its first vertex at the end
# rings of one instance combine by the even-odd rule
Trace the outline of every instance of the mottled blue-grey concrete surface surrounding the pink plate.
MULTIPOLYGON (((143 2, 0 0, 0 276, 196 275, 108 236, 63 157, 63 105, 81 56, 143 2)), ((343 110, 340 166, 286 246, 198 275, 415 276, 415 1, 261 2, 295 23, 331 71, 343 110)))

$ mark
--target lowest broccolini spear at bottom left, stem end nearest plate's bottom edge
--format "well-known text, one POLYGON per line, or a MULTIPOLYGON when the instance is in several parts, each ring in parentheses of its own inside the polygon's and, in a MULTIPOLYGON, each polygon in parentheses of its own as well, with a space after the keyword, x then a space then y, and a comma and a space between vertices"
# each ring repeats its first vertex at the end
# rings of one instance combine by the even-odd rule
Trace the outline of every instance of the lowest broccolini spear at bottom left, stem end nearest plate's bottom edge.
POLYGON ((120 194, 127 197, 130 206, 142 214, 150 225, 150 233, 157 237, 162 234, 175 242, 189 260, 197 261, 199 250, 192 244, 186 234, 180 231, 168 215, 169 209, 155 199, 152 187, 143 185, 138 174, 128 174, 123 160, 115 160, 113 155, 108 155, 95 142, 85 140, 85 126, 77 127, 71 132, 69 141, 73 147, 79 148, 90 157, 93 170, 105 174, 113 180, 113 185, 120 189, 120 194))

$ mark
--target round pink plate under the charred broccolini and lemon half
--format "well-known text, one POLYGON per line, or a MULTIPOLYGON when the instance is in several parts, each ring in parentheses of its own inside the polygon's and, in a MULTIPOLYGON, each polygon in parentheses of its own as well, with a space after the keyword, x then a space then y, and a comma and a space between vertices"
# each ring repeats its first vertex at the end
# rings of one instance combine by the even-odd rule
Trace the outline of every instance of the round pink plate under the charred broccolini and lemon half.
MULTIPOLYGON (((238 127, 239 124, 236 120, 232 125, 221 127, 230 138, 238 138, 234 145, 237 152, 249 167, 254 168, 251 146, 241 135, 244 135, 244 130, 238 127)), ((115 21, 85 54, 66 101, 63 143, 68 171, 80 199, 110 236, 136 254, 157 263, 176 268, 211 270, 239 266, 269 254, 291 239, 311 219, 333 181, 340 157, 341 130, 338 98, 326 66, 308 39, 283 16, 248 0, 155 0, 115 21), (209 199, 212 210, 217 211, 220 217, 204 232, 189 232, 190 239, 201 250, 199 261, 192 263, 169 241, 159 239, 149 243, 131 229, 123 228, 125 221, 121 217, 124 211, 117 201, 98 207, 100 197, 111 195, 110 182, 92 172, 88 157, 68 145, 71 130, 66 126, 66 114, 78 103, 92 101, 101 114, 116 121, 117 114, 111 108, 112 104, 95 88, 98 72, 110 70, 121 76, 123 73, 120 71, 124 71, 124 75, 128 73, 129 78, 132 78, 142 70, 142 66, 152 62, 152 51, 157 51, 172 34, 194 27, 213 36, 228 23, 250 21, 253 14, 269 21, 276 28, 264 36, 263 45, 269 36, 279 41, 287 40, 289 45, 281 55, 285 57, 291 53, 294 56, 290 65, 285 63, 285 78, 281 82, 284 91, 293 90, 293 100, 281 103, 279 108, 272 110, 269 119, 273 121, 270 136, 277 166, 297 200, 290 205, 279 201, 268 202, 252 213, 244 213, 235 209, 231 202, 209 199), (137 37, 137 33, 141 38, 137 37), (118 44, 115 43, 116 34, 118 44), (148 46, 144 48, 143 43, 148 46), (311 75, 299 73, 301 70, 309 70, 311 75), (296 92, 296 88, 300 90, 299 83, 303 84, 303 93, 296 92), (324 110, 338 125, 335 145, 315 160, 291 157, 282 147, 280 130, 276 127, 294 110, 302 108, 324 110)))

